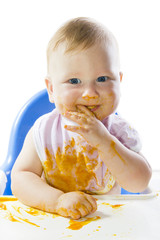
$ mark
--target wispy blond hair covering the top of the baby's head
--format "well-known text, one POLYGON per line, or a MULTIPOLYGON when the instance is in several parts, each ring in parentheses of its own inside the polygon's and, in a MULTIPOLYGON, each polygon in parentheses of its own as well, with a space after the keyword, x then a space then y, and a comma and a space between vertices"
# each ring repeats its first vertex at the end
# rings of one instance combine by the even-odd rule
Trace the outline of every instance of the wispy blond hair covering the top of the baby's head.
MULTIPOLYGON (((102 44, 104 49, 117 55, 118 44, 112 34, 104 25, 92 19, 73 19, 63 25, 51 38, 47 48, 47 66, 56 56, 66 58, 84 50, 93 49, 94 45, 102 44), (112 49, 112 51, 111 51, 112 49)), ((56 60, 56 59, 55 59, 56 60)))

